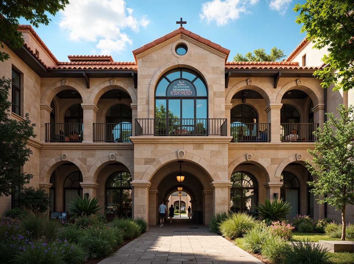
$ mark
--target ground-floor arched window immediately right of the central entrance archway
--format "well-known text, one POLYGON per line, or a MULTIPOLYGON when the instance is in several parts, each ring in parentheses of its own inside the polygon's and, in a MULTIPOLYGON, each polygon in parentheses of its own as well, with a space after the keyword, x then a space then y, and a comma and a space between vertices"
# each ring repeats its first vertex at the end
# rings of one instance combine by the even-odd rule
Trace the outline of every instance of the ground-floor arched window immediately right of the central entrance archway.
POLYGON ((248 172, 236 172, 231 175, 230 210, 233 212, 255 212, 258 199, 258 184, 248 172))

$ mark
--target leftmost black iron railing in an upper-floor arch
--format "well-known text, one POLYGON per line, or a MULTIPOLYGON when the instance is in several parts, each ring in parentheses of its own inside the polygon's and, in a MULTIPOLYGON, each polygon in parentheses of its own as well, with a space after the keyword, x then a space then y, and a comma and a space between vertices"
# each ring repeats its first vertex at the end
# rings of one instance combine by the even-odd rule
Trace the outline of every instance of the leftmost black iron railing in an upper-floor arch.
POLYGON ((82 123, 46 123, 45 142, 82 142, 82 123))

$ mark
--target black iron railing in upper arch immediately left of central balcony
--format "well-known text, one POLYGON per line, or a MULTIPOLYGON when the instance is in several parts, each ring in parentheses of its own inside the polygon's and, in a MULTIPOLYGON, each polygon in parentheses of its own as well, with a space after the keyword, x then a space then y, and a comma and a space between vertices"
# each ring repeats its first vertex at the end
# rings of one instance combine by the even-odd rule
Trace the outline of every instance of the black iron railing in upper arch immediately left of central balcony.
POLYGON ((131 135, 129 122, 93 124, 93 142, 131 142, 131 135))

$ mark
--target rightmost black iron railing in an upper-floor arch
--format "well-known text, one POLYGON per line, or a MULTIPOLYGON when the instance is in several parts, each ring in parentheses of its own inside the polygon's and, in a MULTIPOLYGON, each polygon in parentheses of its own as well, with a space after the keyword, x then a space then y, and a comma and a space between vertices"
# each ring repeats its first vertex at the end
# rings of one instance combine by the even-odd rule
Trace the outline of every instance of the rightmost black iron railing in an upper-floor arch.
POLYGON ((282 123, 280 124, 280 140, 282 142, 314 142, 317 138, 313 132, 318 123, 282 123))

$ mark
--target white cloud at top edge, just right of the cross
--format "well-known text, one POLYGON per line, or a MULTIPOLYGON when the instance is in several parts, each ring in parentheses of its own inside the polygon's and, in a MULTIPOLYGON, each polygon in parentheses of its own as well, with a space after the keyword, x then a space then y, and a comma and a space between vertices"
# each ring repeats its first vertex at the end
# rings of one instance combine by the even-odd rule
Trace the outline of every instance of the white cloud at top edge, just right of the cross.
POLYGON ((218 26, 223 26, 238 19, 240 13, 248 12, 247 7, 257 2, 258 0, 212 0, 202 4, 202 13, 199 16, 208 23, 215 20, 218 26))

